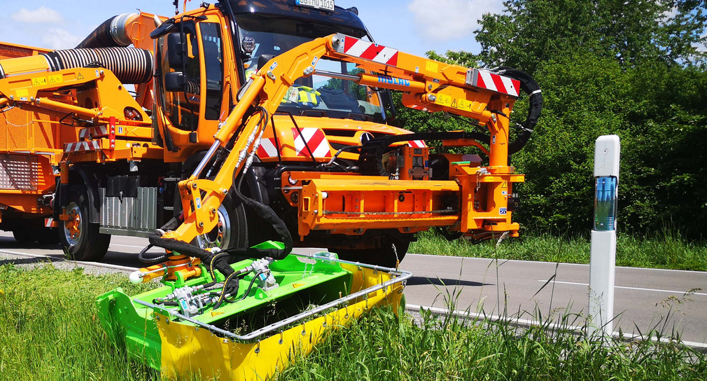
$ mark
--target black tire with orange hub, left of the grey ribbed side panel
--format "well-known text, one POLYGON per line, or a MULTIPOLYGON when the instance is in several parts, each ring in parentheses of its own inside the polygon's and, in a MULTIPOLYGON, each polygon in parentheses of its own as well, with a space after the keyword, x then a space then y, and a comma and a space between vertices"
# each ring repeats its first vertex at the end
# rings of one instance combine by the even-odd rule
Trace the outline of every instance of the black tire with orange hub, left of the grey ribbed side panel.
POLYGON ((86 187, 69 187, 66 213, 71 217, 70 221, 61 221, 59 224, 59 240, 66 257, 94 262, 103 259, 110 245, 110 235, 100 234, 98 223, 90 223, 86 187))

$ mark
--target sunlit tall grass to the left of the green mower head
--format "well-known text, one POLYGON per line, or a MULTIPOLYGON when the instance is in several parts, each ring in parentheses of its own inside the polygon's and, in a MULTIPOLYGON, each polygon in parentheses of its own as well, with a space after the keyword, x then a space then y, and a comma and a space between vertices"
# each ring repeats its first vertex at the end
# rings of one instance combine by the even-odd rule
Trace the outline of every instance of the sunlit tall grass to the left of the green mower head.
POLYGON ((0 266, 0 379, 159 379, 109 341, 96 316, 95 297, 115 287, 138 293, 117 274, 86 276, 52 264, 25 271, 0 266))

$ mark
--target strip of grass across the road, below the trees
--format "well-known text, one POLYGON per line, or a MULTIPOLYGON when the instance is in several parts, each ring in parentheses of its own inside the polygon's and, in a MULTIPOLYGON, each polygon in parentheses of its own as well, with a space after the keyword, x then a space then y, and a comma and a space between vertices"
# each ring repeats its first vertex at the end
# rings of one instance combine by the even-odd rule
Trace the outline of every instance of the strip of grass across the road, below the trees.
MULTIPOLYGON (((474 245, 464 240, 448 241, 424 232, 409 252, 459 257, 520 259, 525 261, 589 263, 590 242, 581 237, 556 237, 547 233, 506 240, 495 248, 489 240, 474 245)), ((617 266, 707 271, 707 245, 692 243, 665 232, 645 238, 617 235, 617 266)))

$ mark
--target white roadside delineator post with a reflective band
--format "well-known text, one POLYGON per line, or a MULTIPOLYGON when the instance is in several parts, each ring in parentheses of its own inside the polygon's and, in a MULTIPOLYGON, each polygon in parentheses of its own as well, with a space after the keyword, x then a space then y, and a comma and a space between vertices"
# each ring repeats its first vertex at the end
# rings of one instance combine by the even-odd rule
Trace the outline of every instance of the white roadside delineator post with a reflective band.
POLYGON ((594 228, 589 268, 587 325, 590 334, 597 329, 601 329, 604 335, 611 335, 613 332, 619 151, 619 136, 604 135, 597 138, 594 148, 594 228))

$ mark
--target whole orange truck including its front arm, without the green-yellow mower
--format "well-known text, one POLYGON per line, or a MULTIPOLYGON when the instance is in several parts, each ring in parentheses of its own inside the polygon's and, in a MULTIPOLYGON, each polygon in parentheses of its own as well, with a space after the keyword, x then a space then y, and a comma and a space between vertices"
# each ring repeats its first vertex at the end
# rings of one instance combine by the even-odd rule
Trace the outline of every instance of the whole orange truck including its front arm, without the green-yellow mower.
POLYGON ((523 175, 508 160, 539 117, 537 83, 375 44, 355 8, 220 1, 116 16, 75 49, 0 54, 0 228, 18 240, 56 229, 71 256, 98 260, 110 235, 235 252, 275 239, 391 266, 433 227, 518 235, 523 175), (477 130, 392 127, 391 91, 477 130))

